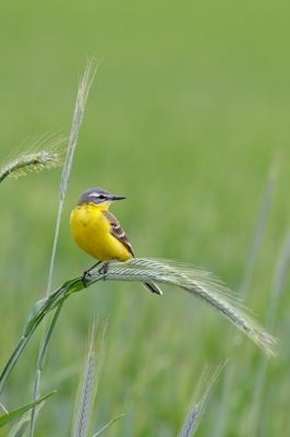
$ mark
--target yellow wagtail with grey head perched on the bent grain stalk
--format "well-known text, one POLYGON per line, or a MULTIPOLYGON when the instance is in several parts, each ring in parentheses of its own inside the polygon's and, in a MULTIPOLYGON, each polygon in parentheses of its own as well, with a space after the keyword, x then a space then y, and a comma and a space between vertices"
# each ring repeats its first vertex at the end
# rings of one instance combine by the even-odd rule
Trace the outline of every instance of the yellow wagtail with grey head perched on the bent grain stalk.
MULTIPOLYGON (((82 281, 100 262, 100 273, 107 273, 108 265, 113 260, 128 261, 134 258, 132 246, 120 226, 118 220, 108 211, 116 200, 125 199, 113 196, 102 188, 90 188, 80 197, 77 205, 71 213, 72 236, 77 246, 96 258, 98 262, 84 271, 82 281)), ((155 283, 144 283, 152 293, 162 294, 155 283)))

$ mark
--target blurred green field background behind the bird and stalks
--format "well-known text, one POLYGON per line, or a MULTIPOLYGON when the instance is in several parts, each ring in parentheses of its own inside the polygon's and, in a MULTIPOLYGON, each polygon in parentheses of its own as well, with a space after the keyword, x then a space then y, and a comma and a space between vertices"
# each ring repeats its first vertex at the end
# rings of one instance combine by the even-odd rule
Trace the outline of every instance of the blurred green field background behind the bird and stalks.
MULTIPOLYGON (((36 131, 69 133, 86 58, 102 58, 64 202, 53 290, 94 262, 73 243, 69 217, 80 194, 96 186, 126 197, 111 211, 136 256, 201 265, 239 290, 275 167, 246 298, 265 323, 290 212, 289 14, 288 1, 273 0, 1 3, 0 161, 36 131)), ((1 368, 45 295, 60 176, 58 168, 1 185, 1 368)), ((289 280, 271 332, 280 339, 279 356, 268 363, 263 436, 290 427, 288 290, 289 280)), ((124 413, 106 435, 177 436, 205 363, 230 356, 197 435, 216 435, 232 363, 223 435, 253 435, 257 347, 180 290, 165 286, 159 298, 140 284, 104 283, 65 303, 41 376, 41 394, 57 394, 43 409, 36 436, 69 435, 95 316, 109 319, 95 432, 124 413)), ((37 332, 7 386, 1 401, 9 410, 32 399, 39 339, 37 332)))

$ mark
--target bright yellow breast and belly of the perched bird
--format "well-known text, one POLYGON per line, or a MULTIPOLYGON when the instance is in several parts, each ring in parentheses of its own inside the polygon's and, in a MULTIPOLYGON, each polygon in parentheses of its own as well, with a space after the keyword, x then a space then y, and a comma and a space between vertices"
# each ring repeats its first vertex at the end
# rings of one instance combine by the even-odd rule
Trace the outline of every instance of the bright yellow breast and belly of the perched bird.
POLYGON ((132 258, 126 247, 110 233, 110 223, 100 208, 96 204, 84 203, 71 213, 72 236, 77 246, 99 261, 117 258, 128 261, 132 258))

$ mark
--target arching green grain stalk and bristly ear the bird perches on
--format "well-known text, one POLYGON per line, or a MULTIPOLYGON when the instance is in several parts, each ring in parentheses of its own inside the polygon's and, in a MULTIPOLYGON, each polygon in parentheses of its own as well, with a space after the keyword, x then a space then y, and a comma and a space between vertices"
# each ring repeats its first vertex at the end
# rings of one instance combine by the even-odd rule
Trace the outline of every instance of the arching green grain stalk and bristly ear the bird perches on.
MULTIPOLYGON (((92 276, 86 280, 86 286, 102 280, 104 273, 92 271, 92 276)), ((153 260, 148 258, 134 258, 126 262, 113 262, 106 273, 107 281, 135 281, 157 282, 176 285, 194 295, 213 309, 231 321, 238 329, 257 344, 268 356, 275 356, 276 339, 257 323, 249 310, 241 304, 237 295, 226 288, 221 282, 202 269, 170 260, 153 260)), ((35 304, 25 323, 23 338, 9 359, 0 376, 0 393, 19 359, 27 341, 41 322, 44 317, 62 304, 72 293, 84 288, 81 276, 67 281, 47 298, 35 304)))

